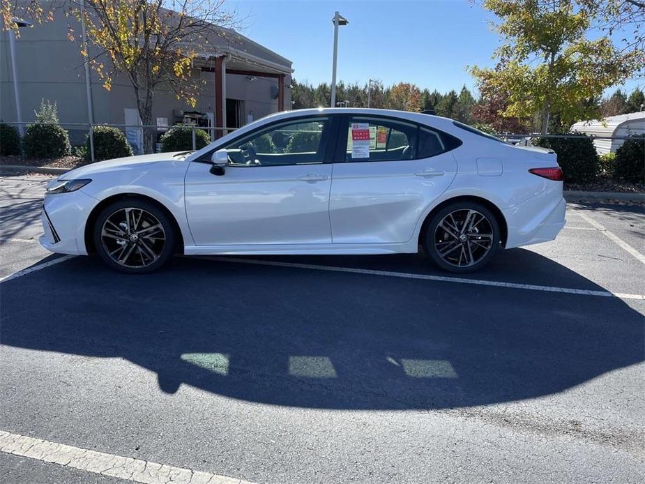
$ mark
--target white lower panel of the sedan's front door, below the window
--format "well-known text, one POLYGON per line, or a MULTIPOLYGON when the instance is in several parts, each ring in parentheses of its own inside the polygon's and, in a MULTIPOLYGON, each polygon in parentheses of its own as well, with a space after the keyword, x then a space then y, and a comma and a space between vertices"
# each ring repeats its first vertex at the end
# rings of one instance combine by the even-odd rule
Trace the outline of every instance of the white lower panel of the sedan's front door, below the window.
POLYGON ((331 164, 210 168, 191 162, 185 178, 197 245, 331 243, 331 164))

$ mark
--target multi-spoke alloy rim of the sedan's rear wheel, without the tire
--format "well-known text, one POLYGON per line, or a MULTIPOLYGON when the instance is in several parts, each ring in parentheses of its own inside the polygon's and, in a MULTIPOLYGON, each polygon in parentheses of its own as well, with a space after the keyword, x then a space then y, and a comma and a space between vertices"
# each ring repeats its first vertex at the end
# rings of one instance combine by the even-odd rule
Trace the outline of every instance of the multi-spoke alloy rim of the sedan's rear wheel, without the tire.
POLYGON ((490 220, 472 209, 448 213, 434 230, 437 255, 453 267, 471 267, 480 262, 492 249, 493 240, 490 220))

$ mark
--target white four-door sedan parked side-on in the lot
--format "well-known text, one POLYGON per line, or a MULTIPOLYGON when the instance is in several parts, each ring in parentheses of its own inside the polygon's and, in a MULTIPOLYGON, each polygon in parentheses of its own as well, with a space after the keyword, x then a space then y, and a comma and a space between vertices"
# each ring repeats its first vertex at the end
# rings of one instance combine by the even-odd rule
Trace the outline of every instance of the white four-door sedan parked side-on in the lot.
POLYGON ((145 273, 185 255, 393 254, 453 272, 565 224, 553 151, 384 109, 266 116, 204 149, 98 162, 47 186, 52 252, 145 273))

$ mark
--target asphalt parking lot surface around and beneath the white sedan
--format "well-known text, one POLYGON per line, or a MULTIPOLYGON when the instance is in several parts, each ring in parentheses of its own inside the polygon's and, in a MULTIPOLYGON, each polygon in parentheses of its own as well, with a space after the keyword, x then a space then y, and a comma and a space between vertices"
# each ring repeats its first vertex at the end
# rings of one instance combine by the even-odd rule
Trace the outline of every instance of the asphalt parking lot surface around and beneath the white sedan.
POLYGON ((0 178, 1 482, 642 482, 642 207, 572 204, 556 241, 473 275, 127 276, 40 248, 47 179, 0 178))

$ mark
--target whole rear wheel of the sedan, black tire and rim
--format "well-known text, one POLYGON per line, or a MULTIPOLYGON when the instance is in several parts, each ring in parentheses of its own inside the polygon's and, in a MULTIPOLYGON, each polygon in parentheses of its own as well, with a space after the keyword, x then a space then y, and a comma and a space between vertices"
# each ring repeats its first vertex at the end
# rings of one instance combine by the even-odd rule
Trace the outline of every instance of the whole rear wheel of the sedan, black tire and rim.
POLYGON ((477 202, 455 202, 432 215, 423 249, 441 269, 469 273, 490 262, 500 240, 499 221, 490 209, 477 202))

